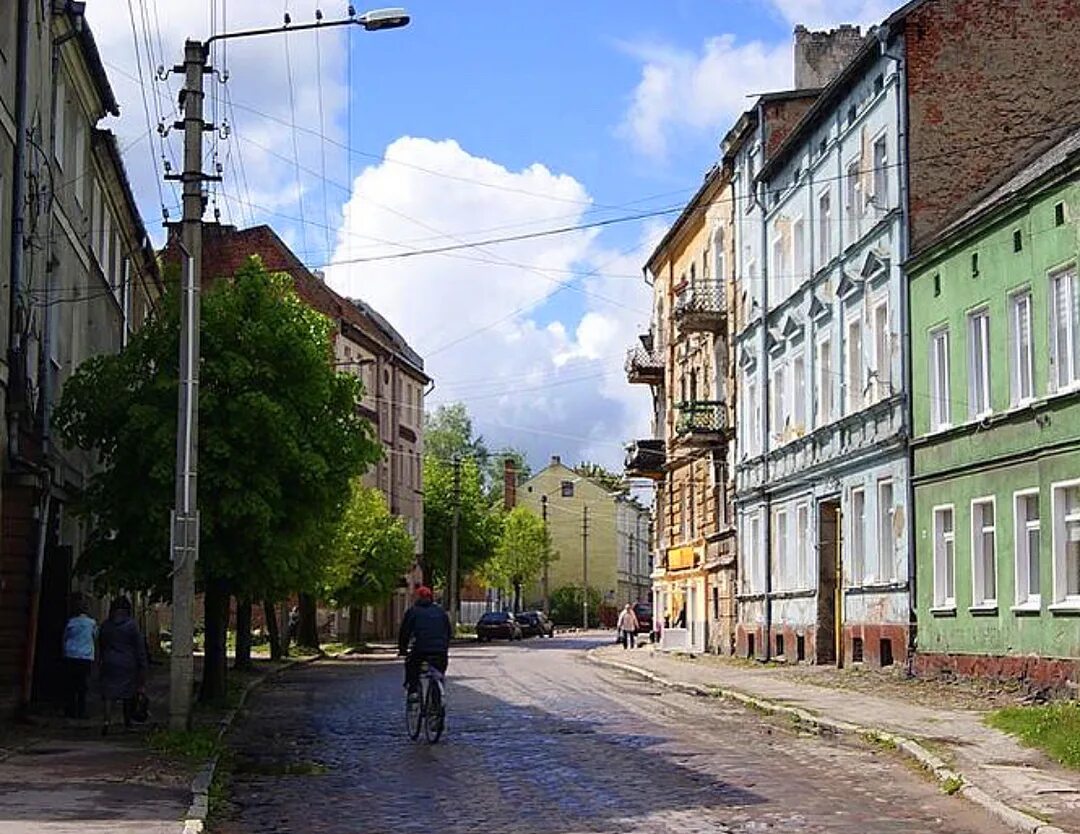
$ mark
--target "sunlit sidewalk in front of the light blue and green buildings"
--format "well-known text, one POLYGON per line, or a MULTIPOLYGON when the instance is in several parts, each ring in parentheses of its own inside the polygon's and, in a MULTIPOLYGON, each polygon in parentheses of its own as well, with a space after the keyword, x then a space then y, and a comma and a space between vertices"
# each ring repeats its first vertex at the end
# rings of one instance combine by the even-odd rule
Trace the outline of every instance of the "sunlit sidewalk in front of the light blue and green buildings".
POLYGON ((949 771, 959 775, 966 796, 1015 830, 1052 834, 1052 826, 1056 826, 1080 833, 1080 774, 987 727, 983 723, 985 711, 935 709, 892 694, 882 697, 792 680, 783 670, 707 656, 663 655, 651 647, 634 651, 604 647, 590 653, 590 658, 669 686, 725 695, 779 711, 802 711, 821 719, 826 729, 902 737, 897 741, 904 753, 929 764, 940 778, 949 771), (906 745, 904 739, 916 743, 906 745), (1008 808, 1001 807, 1002 803, 1008 808))

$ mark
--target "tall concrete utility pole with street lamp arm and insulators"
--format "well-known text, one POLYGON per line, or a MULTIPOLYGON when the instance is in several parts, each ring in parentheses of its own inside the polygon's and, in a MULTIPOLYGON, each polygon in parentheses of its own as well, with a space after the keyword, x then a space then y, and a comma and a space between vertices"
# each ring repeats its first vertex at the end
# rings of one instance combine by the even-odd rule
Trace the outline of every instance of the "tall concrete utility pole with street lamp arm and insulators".
POLYGON ((166 179, 184 186, 183 246, 185 269, 180 293, 180 386, 176 432, 176 503, 172 514, 171 557, 173 561, 173 646, 170 660, 168 723, 174 729, 185 729, 191 721, 193 685, 193 626, 195 562, 199 560, 199 505, 197 500, 199 458, 199 291, 202 284, 202 216, 205 211, 203 183, 220 176, 203 173, 203 133, 216 125, 203 121, 203 76, 212 71, 210 45, 214 41, 279 35, 306 29, 336 26, 361 26, 367 31, 396 29, 406 26, 409 16, 404 9, 379 9, 356 15, 350 6, 349 17, 341 21, 285 25, 266 29, 247 29, 212 35, 205 41, 188 40, 184 44, 184 63, 173 67, 183 73, 180 109, 184 118, 173 126, 184 131, 184 172, 165 174, 166 179))

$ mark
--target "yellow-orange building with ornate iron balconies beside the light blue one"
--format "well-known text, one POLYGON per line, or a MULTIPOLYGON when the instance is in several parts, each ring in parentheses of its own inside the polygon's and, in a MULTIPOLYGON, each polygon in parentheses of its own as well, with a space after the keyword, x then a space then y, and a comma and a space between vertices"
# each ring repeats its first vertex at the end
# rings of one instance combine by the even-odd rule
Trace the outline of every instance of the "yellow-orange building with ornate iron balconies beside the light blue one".
POLYGON ((653 606, 665 648, 731 654, 735 530, 729 447, 733 377, 733 206, 714 167, 646 263, 653 320, 626 357, 648 385, 653 436, 631 444, 626 473, 656 485, 653 606))

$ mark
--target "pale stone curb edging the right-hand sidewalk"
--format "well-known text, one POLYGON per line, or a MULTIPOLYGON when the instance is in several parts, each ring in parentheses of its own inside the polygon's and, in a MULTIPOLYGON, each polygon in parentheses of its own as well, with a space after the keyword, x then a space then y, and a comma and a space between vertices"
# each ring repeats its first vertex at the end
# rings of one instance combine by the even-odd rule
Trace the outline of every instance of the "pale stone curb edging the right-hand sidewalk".
POLYGON ((983 808, 1007 828, 1023 832, 1023 834, 1068 834, 1063 829, 1051 825, 1038 817, 1032 817, 1030 813, 1013 808, 1011 805, 1007 805, 1000 799, 990 796, 986 791, 976 788, 968 781, 963 774, 951 769, 919 742, 905 736, 897 736, 874 727, 863 727, 858 724, 822 717, 798 707, 787 707, 786 704, 770 701, 766 698, 746 695, 738 689, 728 689, 719 686, 701 686, 699 684, 686 683, 685 681, 670 681, 654 672, 631 663, 596 657, 594 653, 595 649, 585 655, 591 663, 607 667, 608 669, 618 669, 622 672, 644 677, 667 689, 705 698, 724 698, 770 715, 791 715, 799 724, 808 725, 820 731, 833 732, 838 736, 859 736, 870 741, 882 741, 893 744, 899 752, 916 762, 923 770, 929 772, 943 788, 946 784, 959 784, 960 789, 956 793, 959 793, 969 802, 983 808))

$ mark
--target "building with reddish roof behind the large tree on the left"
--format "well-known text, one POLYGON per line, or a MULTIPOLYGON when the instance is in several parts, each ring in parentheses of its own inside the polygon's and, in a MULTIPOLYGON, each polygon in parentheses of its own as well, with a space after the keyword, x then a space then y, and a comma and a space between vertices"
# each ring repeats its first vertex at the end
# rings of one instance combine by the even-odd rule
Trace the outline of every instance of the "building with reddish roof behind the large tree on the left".
MULTIPOLYGON (((178 225, 170 226, 170 242, 163 255, 166 261, 178 259, 178 225)), ((322 275, 305 267, 269 226, 238 229, 204 224, 204 283, 234 274, 252 255, 261 258, 267 269, 291 275, 300 298, 335 323, 336 364, 356 374, 364 384, 361 409, 383 448, 382 460, 364 476, 364 483, 377 487, 386 496, 390 511, 405 520, 416 542, 417 562, 409 575, 402 577, 401 587, 387 605, 351 613, 361 618, 359 624, 352 626, 352 633, 389 636, 404 616, 411 589, 422 580, 423 398, 431 379, 424 373, 423 360, 390 322, 364 301, 345 298, 330 290, 322 275)), ((347 633, 345 615, 337 630, 347 633)))

